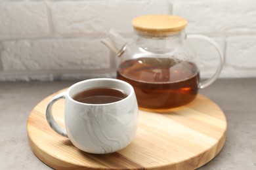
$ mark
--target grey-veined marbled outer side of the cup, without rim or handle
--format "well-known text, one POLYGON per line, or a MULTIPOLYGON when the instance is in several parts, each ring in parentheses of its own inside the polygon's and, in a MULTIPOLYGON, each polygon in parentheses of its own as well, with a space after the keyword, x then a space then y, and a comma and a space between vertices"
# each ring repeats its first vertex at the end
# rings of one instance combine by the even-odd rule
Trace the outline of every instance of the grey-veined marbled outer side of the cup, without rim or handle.
POLYGON ((116 152, 130 144, 137 131, 139 115, 135 94, 129 97, 131 99, 116 105, 73 103, 74 107, 66 107, 67 112, 75 114, 66 114, 65 120, 72 143, 95 154, 116 152), (77 131, 77 127, 82 127, 81 131, 77 131))

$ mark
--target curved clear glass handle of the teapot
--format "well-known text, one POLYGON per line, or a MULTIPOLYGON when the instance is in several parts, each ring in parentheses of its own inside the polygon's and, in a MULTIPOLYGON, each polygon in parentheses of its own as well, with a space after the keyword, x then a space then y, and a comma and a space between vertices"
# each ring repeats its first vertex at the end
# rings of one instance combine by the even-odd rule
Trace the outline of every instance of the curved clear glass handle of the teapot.
POLYGON ((211 39, 209 37, 206 37, 205 35, 196 35, 196 34, 186 35, 186 39, 202 39, 204 41, 207 41, 215 47, 215 49, 217 50, 217 52, 219 54, 220 63, 217 68, 217 71, 215 71, 215 74, 213 76, 211 76, 211 78, 209 78, 203 82, 200 82, 200 84, 199 84, 199 88, 206 88, 207 86, 209 86, 213 82, 215 82, 215 80, 218 78, 219 74, 221 73, 221 70, 223 69, 224 58, 223 58, 223 53, 221 52, 221 48, 217 44, 217 42, 213 41, 213 39, 211 39))

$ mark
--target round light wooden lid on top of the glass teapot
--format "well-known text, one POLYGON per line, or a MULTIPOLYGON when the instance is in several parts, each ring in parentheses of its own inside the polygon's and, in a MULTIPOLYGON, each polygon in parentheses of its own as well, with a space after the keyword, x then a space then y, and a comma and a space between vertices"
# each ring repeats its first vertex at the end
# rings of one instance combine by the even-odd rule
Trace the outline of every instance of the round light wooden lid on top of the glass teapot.
POLYGON ((134 18, 132 24, 142 34, 169 35, 184 29, 187 21, 180 16, 153 14, 134 18))

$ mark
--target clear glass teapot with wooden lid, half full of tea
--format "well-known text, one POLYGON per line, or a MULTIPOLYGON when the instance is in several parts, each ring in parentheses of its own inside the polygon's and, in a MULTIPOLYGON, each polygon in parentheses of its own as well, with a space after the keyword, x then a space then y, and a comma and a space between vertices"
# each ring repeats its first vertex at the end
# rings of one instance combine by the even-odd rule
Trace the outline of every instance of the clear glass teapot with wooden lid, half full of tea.
POLYGON ((186 105, 221 73, 223 55, 218 44, 203 35, 186 35, 184 18, 146 15, 135 18, 132 24, 133 41, 125 41, 111 29, 102 43, 117 54, 117 78, 133 86, 140 109, 164 112, 186 105), (219 54, 217 71, 204 82, 200 82, 196 55, 186 46, 188 38, 210 42, 219 54))

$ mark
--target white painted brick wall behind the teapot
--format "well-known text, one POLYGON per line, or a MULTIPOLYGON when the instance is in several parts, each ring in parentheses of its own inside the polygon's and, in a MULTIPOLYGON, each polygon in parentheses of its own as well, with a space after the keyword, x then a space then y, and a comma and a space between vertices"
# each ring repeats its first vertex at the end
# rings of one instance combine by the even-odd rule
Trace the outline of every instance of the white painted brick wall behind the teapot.
MULTIPOLYGON (((100 38, 111 27, 131 37, 131 20, 142 14, 186 18, 186 33, 207 35, 221 46, 221 77, 256 77, 254 0, 0 0, 0 81, 114 76, 114 55, 100 38)), ((213 75, 214 49, 203 41, 189 44, 201 75, 213 75)))

